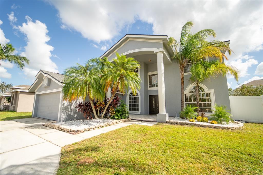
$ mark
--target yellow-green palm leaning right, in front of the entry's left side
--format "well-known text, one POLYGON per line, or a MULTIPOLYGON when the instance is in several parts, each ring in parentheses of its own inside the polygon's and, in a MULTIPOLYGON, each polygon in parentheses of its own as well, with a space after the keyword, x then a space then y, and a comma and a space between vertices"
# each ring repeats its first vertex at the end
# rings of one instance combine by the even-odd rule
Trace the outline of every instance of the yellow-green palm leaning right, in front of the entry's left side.
POLYGON ((106 92, 108 88, 112 88, 112 95, 108 104, 105 106, 102 117, 105 115, 117 90, 125 93, 125 91, 128 91, 128 88, 130 88, 133 94, 136 94, 136 89, 140 89, 141 79, 138 77, 138 74, 134 72, 140 68, 139 62, 134 58, 127 58, 125 55, 119 55, 118 53, 116 53, 116 56, 117 58, 113 59, 112 63, 110 63, 110 68, 107 69, 102 77, 104 92, 106 92))

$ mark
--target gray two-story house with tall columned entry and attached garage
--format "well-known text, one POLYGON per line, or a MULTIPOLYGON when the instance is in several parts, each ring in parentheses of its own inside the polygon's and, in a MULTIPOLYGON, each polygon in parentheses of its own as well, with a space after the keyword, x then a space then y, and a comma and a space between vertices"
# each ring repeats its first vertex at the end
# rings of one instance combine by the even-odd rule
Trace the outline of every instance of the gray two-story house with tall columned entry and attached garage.
MULTIPOLYGON (((229 41, 227 41, 229 43, 229 41)), ((130 114, 157 114, 163 121, 169 116, 179 116, 181 110, 181 80, 179 66, 172 60, 173 50, 167 46, 167 35, 127 34, 114 44, 104 56, 109 60, 116 58, 115 52, 133 57, 140 63, 136 70, 141 78, 140 90, 134 95, 129 90, 118 94, 129 106, 130 114)), ((207 58, 206 60, 213 60, 207 58)), ((195 104, 194 85, 188 63, 185 68, 184 92, 185 105, 195 104)), ((83 118, 75 109, 76 102, 62 100, 63 75, 40 70, 29 92, 35 93, 33 117, 57 121, 83 118), (52 117, 51 117, 52 116, 52 117)), ((230 110, 226 77, 218 76, 200 84, 200 109, 211 114, 215 104, 226 105, 230 110)), ((106 93, 110 97, 110 90, 106 93)), ((159 120, 160 121, 160 120, 159 120)))

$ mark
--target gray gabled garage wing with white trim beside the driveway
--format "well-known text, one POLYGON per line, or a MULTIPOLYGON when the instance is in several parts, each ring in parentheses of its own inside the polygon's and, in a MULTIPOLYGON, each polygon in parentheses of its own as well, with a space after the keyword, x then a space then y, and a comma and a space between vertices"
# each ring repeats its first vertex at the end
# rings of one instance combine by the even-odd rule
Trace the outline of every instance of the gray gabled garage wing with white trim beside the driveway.
POLYGON ((58 122, 84 119, 76 109, 77 103, 82 100, 63 100, 63 81, 63 74, 39 70, 36 80, 28 89, 35 93, 32 117, 58 122))

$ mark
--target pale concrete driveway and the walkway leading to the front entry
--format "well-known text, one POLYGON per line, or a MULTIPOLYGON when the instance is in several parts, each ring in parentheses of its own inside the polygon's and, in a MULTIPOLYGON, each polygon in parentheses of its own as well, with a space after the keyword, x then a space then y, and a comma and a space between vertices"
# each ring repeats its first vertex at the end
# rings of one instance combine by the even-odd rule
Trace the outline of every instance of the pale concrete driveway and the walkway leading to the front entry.
POLYGON ((132 124, 156 123, 130 120, 78 135, 42 126, 38 118, 0 121, 0 174, 54 174, 61 147, 132 124))

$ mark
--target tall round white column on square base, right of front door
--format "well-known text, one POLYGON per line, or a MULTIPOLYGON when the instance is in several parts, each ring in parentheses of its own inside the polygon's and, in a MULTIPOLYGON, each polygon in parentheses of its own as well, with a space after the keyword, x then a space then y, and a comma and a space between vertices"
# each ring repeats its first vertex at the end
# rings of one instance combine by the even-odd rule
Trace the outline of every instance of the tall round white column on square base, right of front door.
POLYGON ((165 110, 165 87, 164 87, 164 60, 163 52, 157 53, 157 73, 158 73, 158 99, 159 99, 159 114, 157 114, 158 122, 168 120, 168 114, 165 110))

